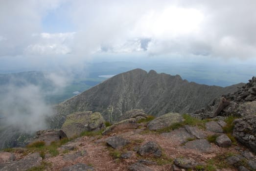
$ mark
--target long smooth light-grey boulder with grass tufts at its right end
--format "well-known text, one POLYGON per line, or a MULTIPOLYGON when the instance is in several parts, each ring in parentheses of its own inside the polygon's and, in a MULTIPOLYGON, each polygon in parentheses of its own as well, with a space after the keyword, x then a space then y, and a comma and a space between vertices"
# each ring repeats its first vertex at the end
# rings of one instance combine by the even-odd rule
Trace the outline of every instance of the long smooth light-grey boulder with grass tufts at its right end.
POLYGON ((149 130, 158 130, 171 126, 172 124, 183 121, 183 117, 179 113, 166 113, 148 123, 149 130))

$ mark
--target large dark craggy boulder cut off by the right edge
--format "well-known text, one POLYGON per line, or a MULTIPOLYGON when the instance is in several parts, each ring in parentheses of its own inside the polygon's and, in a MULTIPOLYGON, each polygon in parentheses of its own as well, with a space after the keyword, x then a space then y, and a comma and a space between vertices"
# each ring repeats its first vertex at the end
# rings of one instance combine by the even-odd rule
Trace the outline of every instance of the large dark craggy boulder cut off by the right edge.
POLYGON ((233 135, 243 145, 256 152, 256 115, 235 119, 233 135))

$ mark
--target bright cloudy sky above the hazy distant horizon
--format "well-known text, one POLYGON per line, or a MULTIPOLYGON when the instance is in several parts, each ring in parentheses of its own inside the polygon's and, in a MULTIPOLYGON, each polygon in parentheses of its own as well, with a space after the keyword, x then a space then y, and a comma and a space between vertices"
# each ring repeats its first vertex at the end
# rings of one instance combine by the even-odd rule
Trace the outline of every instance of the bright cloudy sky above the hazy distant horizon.
POLYGON ((0 67, 138 59, 254 64, 255 6, 255 0, 0 0, 0 67))

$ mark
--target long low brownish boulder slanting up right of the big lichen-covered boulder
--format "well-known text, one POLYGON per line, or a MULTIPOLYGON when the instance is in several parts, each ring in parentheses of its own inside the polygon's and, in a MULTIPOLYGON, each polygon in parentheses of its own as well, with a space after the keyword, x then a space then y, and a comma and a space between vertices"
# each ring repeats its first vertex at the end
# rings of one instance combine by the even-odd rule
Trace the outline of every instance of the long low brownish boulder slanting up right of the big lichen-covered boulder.
POLYGON ((137 124, 136 119, 130 118, 130 119, 126 119, 126 120, 120 121, 118 123, 115 123, 110 127, 107 127, 102 132, 102 135, 107 135, 111 132, 117 132, 117 131, 125 130, 125 129, 136 129, 138 127, 139 127, 139 125, 137 124))

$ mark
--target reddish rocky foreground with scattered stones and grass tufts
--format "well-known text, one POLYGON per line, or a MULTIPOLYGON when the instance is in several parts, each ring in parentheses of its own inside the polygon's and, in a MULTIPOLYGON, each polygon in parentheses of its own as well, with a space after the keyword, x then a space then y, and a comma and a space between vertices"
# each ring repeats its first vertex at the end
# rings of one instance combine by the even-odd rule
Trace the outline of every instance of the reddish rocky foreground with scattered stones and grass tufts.
POLYGON ((120 122, 105 135, 88 134, 67 142, 56 156, 48 151, 42 156, 40 148, 0 152, 0 171, 256 170, 255 154, 223 133, 228 124, 223 118, 189 119, 170 113, 153 121, 120 122), (172 117, 176 122, 163 127, 172 117))

